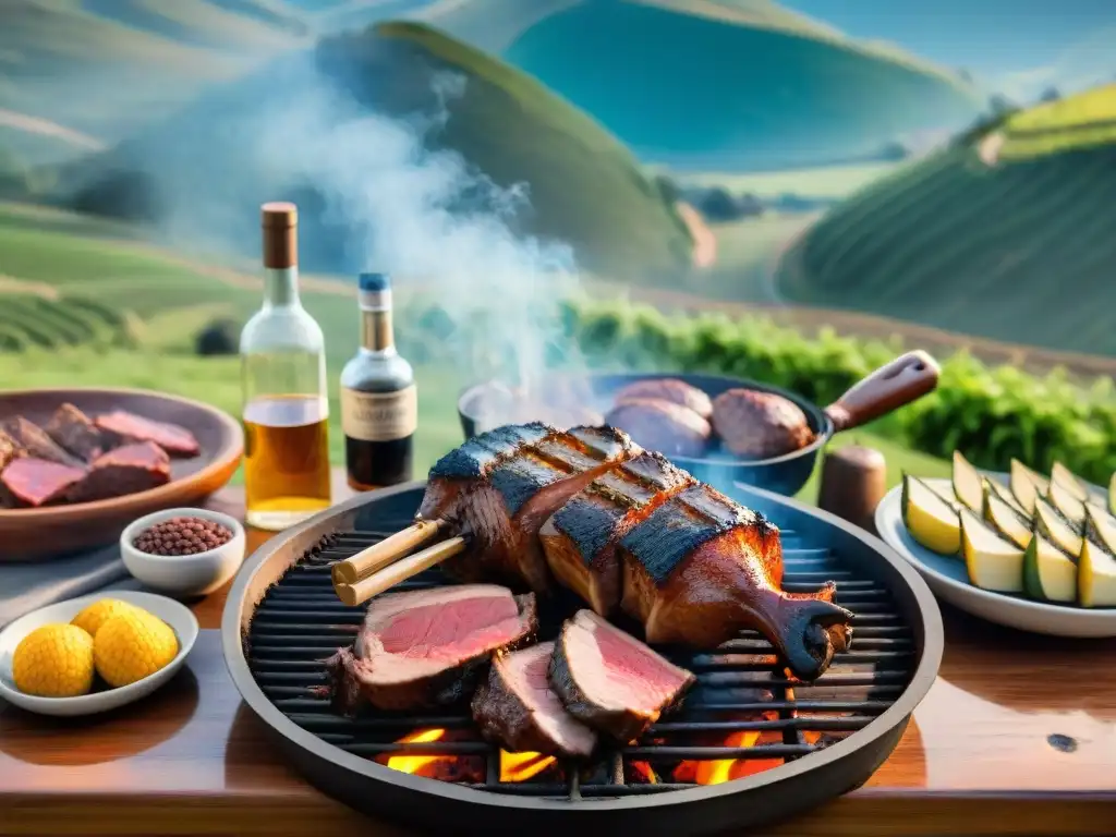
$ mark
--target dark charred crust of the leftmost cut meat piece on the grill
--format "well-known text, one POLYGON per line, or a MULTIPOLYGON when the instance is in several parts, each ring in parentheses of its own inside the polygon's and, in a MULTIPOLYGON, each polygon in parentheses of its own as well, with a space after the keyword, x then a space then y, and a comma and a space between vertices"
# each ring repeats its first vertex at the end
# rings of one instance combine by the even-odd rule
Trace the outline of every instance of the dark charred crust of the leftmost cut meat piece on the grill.
MULTIPOLYGON (((355 645, 339 648, 326 661, 334 708, 341 714, 354 715, 365 699, 384 710, 433 709, 463 703, 488 673, 494 653, 517 651, 532 645, 537 639, 539 618, 535 595, 527 593, 514 596, 514 599, 527 626, 522 633, 499 648, 475 654, 429 676, 384 685, 369 683, 360 677, 364 664, 354 653, 355 645)), ((364 629, 366 628, 362 628, 364 629)))

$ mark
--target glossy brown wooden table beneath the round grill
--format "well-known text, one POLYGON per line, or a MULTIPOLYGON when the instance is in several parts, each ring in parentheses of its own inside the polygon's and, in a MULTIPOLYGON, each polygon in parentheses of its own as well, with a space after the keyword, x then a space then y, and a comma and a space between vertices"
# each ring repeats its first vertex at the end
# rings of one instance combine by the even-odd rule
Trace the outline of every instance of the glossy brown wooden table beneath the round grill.
MULTIPOLYGON (((237 512, 242 498, 228 489, 213 504, 237 512)), ((249 548, 267 538, 251 532, 249 548)), ((0 704, 0 834, 405 834, 277 757, 225 672, 227 591, 194 605, 204 629, 186 668, 145 701, 69 721, 0 704)), ((1116 642, 943 612, 941 676, 891 759, 864 788, 769 834, 1116 834, 1116 642)))

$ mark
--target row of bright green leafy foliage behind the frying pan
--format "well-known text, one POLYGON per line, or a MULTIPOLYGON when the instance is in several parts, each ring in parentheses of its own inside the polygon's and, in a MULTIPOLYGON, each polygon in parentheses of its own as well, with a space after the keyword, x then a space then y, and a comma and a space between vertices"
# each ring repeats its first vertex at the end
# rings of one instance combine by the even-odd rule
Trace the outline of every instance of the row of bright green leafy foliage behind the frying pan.
MULTIPOLYGON (((808 337, 772 321, 716 315, 667 317, 629 302, 565 304, 568 336, 595 366, 705 372, 754 378, 829 404, 904 350, 822 330, 808 337)), ((1116 389, 1054 372, 988 367, 962 352, 944 359, 937 389, 874 425, 914 450, 1008 470, 1016 456, 1049 471, 1059 460, 1107 485, 1116 471, 1116 389)))

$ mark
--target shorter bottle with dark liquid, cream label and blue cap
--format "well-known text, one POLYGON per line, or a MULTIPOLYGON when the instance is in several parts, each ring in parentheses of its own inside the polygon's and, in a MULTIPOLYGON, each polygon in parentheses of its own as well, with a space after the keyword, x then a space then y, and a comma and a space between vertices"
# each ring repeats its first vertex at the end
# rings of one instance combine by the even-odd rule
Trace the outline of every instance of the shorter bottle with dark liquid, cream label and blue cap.
POLYGON ((362 273, 359 300, 360 347, 341 371, 341 430, 348 484, 368 491, 412 479, 419 394, 395 348, 387 275, 362 273))

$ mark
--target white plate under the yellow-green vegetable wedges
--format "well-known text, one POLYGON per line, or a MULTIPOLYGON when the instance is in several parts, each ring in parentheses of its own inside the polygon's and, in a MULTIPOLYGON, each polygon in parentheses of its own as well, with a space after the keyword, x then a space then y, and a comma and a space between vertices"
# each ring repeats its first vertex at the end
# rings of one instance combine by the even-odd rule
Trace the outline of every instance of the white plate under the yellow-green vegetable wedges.
MULTIPOLYGON (((1007 474, 984 473, 1007 484, 1007 474)), ((926 480, 932 485, 949 480, 926 480)), ((1091 488, 1091 487, 1090 487, 1091 488)), ((914 565, 934 595, 973 616, 1035 634, 1096 638, 1116 636, 1116 608, 1075 607, 1032 602, 1010 593, 992 593, 969 581, 964 561, 932 552, 907 532, 903 523, 903 487, 896 485, 876 507, 876 530, 896 552, 914 565)))

